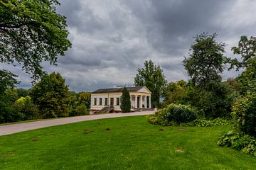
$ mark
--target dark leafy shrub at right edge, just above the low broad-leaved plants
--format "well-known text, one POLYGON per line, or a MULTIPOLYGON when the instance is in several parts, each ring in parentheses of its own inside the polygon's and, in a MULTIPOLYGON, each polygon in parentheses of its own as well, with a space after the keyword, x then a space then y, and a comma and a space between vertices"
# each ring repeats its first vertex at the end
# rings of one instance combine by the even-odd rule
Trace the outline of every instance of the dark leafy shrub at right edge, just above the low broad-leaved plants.
POLYGON ((256 93, 247 94, 232 108, 235 128, 256 137, 256 93))

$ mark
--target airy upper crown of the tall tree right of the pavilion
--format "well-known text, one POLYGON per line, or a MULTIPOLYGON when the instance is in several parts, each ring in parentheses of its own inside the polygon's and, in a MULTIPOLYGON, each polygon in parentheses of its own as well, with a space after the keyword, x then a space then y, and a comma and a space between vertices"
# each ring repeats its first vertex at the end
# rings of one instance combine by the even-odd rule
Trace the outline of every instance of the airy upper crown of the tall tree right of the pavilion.
POLYGON ((224 57, 225 44, 216 42, 217 34, 202 33, 196 35, 195 42, 191 45, 190 57, 183 60, 183 65, 191 77, 193 84, 201 89, 214 89, 215 84, 221 81, 227 58, 224 57))

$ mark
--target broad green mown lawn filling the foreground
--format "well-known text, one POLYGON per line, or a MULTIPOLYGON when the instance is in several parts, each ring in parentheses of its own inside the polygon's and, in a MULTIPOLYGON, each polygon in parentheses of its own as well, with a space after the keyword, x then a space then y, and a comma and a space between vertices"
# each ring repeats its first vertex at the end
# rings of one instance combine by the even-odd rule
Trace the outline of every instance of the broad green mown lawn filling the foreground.
POLYGON ((58 125, 0 137, 0 169, 256 169, 255 157, 216 145, 231 129, 162 127, 145 116, 58 125))

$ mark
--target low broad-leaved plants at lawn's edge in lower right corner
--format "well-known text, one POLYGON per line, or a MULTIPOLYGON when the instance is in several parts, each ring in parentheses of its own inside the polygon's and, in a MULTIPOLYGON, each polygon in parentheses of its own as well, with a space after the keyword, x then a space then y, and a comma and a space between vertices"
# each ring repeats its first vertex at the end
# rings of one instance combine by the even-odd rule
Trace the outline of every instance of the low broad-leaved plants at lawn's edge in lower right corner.
POLYGON ((222 132, 218 145, 221 147, 232 147, 256 157, 256 138, 242 132, 222 132))

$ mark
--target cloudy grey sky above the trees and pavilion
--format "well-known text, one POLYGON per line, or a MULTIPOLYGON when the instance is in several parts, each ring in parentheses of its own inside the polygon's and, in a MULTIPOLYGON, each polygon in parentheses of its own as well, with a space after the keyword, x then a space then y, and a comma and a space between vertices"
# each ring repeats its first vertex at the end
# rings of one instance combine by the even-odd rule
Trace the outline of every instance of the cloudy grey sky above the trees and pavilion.
MULTIPOLYGON (((188 80, 182 65, 193 37, 217 33, 225 56, 241 35, 256 31, 255 0, 60 0, 58 13, 67 17, 72 48, 58 57, 58 66, 43 63, 47 72, 60 72, 71 91, 130 86, 137 69, 152 60, 168 81, 188 80)), ((20 66, 1 64, 18 75, 18 87, 31 87, 30 74, 20 66)), ((239 72, 225 71, 223 79, 239 72)))

